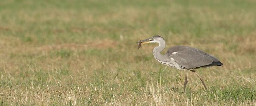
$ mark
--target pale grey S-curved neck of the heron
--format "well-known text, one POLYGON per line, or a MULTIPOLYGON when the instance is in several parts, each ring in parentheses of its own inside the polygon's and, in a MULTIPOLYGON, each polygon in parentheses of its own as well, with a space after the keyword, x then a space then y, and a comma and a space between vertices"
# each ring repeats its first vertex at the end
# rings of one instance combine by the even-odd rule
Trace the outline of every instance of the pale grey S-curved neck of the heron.
POLYGON ((165 61, 168 59, 168 56, 167 55, 162 55, 161 54, 161 51, 164 50, 165 48, 165 41, 164 40, 160 40, 159 42, 157 42, 159 44, 158 47, 155 47, 154 50, 153 50, 153 55, 154 57, 157 59, 157 60, 160 60, 160 61, 165 61))

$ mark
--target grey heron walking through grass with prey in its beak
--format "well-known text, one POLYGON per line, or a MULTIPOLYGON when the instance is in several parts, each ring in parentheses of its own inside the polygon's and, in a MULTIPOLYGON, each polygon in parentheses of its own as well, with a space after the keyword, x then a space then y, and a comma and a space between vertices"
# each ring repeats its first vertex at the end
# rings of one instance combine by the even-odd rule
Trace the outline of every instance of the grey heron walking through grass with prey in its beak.
POLYGON ((161 51, 165 48, 165 40, 163 37, 159 35, 155 35, 148 39, 138 41, 138 49, 141 44, 146 43, 158 43, 159 46, 153 49, 153 55, 157 61, 160 63, 174 67, 181 71, 185 72, 185 82, 183 91, 185 91, 187 86, 187 76, 188 71, 194 72, 202 81, 203 86, 207 89, 207 86, 204 83, 204 79, 200 76, 195 69, 201 67, 211 67, 211 66, 222 66, 223 64, 214 56, 205 53, 199 49, 188 47, 188 46, 173 46, 169 48, 169 50, 162 55, 161 51))

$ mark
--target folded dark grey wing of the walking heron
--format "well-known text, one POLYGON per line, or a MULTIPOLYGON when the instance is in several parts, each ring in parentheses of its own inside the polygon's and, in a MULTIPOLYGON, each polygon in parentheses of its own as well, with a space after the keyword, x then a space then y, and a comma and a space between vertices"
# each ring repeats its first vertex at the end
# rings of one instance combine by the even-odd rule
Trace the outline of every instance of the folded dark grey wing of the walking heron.
POLYGON ((167 53, 178 65, 187 69, 212 65, 222 65, 222 63, 217 58, 192 47, 174 46, 170 48, 167 53))

